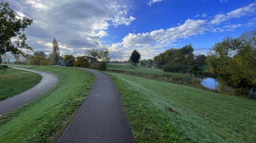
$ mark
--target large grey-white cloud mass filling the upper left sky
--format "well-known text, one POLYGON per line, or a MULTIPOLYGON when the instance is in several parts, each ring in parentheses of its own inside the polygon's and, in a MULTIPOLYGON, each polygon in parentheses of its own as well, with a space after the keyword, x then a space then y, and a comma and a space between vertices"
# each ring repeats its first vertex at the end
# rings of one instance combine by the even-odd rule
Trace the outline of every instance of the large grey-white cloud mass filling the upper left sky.
MULTIPOLYGON (((61 53, 78 54, 85 48, 104 48, 101 39, 107 30, 119 25, 130 25, 136 18, 129 13, 129 7, 115 0, 22 0, 9 2, 19 17, 33 19, 26 30, 28 44, 33 48, 50 52, 53 37, 73 50, 61 53), (35 44, 36 43, 36 44, 35 44), (36 47, 35 47, 36 46, 36 47)), ((82 53, 85 53, 83 51, 82 53)))

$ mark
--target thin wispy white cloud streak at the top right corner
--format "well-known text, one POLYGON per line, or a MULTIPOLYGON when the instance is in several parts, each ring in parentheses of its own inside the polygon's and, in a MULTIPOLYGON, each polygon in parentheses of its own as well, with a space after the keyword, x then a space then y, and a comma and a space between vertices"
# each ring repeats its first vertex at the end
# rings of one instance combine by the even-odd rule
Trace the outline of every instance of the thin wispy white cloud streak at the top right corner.
POLYGON ((251 3, 248 6, 235 9, 234 11, 228 12, 227 14, 217 14, 210 21, 210 23, 218 25, 224 21, 228 21, 229 19, 252 15, 252 14, 255 14, 255 12, 256 12, 256 3, 251 3))

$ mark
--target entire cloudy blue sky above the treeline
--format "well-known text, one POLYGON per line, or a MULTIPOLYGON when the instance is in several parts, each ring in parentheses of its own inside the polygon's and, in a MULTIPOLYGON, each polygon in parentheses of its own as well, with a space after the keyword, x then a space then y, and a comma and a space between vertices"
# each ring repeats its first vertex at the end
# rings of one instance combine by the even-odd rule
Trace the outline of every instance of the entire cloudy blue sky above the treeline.
POLYGON ((112 60, 128 60, 137 50, 152 59, 166 49, 192 44, 206 54, 216 42, 256 29, 252 0, 8 0, 17 18, 33 24, 27 44, 36 52, 76 57, 88 49, 108 48, 112 60))

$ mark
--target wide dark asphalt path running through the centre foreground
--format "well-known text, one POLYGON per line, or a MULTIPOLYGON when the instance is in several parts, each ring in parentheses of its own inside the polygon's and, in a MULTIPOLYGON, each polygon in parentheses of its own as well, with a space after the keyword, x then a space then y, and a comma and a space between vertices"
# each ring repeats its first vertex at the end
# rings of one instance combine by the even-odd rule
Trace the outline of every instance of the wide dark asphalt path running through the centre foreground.
POLYGON ((57 142, 134 142, 115 84, 106 74, 96 76, 87 99, 57 142))

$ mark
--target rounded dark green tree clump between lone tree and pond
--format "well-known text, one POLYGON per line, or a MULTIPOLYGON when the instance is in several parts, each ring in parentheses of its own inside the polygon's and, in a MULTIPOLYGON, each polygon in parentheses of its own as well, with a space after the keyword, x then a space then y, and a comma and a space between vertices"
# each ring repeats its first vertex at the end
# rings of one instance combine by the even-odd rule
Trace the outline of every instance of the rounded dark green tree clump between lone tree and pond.
POLYGON ((194 54, 191 44, 180 49, 168 49, 154 57, 154 63, 158 68, 166 72, 191 72, 194 68, 194 54))

